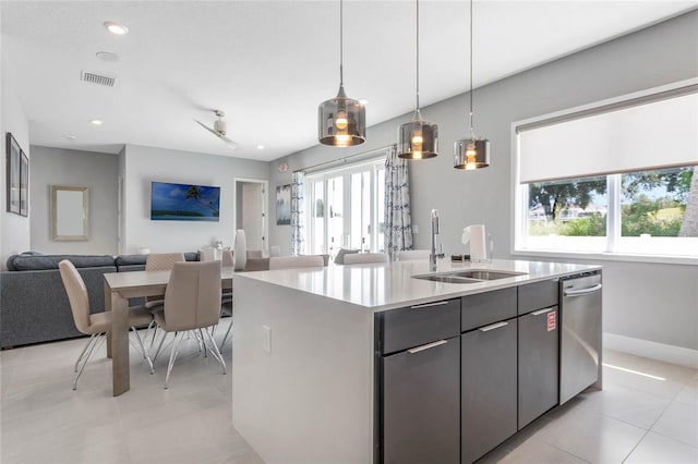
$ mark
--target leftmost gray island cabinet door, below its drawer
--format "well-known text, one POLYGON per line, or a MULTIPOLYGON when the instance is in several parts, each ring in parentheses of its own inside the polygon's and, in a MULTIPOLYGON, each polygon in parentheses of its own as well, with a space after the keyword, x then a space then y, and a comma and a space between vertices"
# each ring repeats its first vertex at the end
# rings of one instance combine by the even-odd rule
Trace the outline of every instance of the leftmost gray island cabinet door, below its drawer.
POLYGON ((383 462, 457 463, 460 337, 383 357, 383 462))

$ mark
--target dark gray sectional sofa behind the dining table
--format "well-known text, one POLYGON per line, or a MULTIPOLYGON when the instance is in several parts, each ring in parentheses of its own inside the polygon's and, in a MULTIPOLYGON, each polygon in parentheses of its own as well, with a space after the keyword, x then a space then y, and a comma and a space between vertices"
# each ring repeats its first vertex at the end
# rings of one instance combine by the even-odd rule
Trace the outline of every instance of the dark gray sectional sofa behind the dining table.
MULTIPOLYGON (((197 253, 185 253, 188 261, 197 253)), ((83 334, 75 329, 68 294, 58 264, 69 259, 87 286, 93 313, 104 310, 104 274, 145 269, 143 255, 41 255, 25 253, 8 259, 0 274, 0 347, 71 339, 83 334)), ((139 302, 131 302, 137 304, 139 302)))

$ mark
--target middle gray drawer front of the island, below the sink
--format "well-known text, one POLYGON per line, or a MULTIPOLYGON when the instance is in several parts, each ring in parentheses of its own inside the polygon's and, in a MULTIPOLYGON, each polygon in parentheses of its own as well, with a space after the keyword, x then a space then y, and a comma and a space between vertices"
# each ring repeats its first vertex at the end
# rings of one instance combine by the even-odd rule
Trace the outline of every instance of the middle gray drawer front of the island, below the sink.
POLYGON ((516 288, 464 296, 460 302, 461 331, 468 331, 516 316, 516 288))

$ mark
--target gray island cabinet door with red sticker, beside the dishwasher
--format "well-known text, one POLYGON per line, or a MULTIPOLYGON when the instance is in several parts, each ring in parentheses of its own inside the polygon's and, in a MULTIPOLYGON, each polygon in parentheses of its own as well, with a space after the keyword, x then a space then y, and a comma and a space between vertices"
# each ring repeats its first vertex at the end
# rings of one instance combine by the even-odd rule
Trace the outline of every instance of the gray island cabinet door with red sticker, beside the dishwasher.
POLYGON ((519 430, 557 404, 557 306, 518 318, 518 428, 519 430))

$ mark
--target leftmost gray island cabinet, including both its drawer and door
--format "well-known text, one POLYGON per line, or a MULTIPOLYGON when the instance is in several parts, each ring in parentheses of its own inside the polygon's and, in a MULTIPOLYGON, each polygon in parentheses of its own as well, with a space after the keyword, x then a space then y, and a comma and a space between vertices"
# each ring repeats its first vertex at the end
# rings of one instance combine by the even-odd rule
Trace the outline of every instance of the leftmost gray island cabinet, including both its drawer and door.
POLYGON ((376 315, 376 462, 457 463, 460 298, 376 315))

